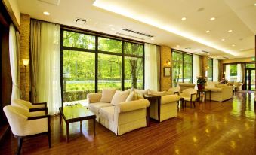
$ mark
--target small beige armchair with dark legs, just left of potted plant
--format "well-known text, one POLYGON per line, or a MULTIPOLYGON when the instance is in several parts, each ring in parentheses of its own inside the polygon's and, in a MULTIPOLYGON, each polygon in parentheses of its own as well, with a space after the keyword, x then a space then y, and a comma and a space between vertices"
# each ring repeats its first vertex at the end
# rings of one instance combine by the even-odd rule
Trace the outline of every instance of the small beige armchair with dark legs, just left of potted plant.
POLYGON ((180 98, 184 98, 185 107, 187 102, 190 102, 190 108, 192 108, 192 102, 194 107, 196 107, 196 93, 197 91, 193 88, 188 88, 186 90, 183 90, 182 93, 180 93, 180 98))

